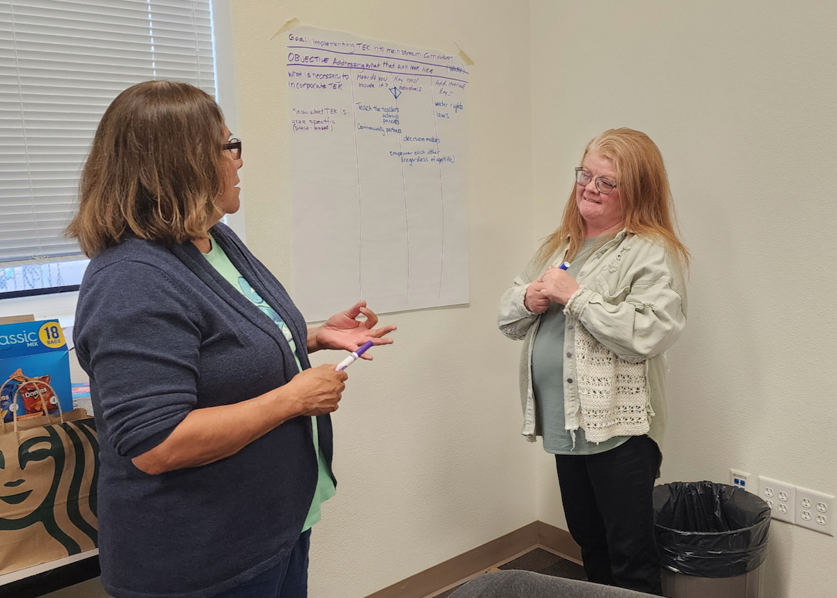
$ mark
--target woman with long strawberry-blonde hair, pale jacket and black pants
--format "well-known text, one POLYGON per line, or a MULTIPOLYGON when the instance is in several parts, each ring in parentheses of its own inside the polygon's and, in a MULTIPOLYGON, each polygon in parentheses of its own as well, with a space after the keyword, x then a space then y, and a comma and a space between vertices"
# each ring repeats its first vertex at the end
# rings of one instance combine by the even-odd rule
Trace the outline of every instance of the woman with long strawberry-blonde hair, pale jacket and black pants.
POLYGON ((561 226, 503 294, 498 324, 524 340, 523 434, 555 455, 588 580, 659 595, 651 493, 689 256, 648 135, 606 130, 575 170, 561 226))

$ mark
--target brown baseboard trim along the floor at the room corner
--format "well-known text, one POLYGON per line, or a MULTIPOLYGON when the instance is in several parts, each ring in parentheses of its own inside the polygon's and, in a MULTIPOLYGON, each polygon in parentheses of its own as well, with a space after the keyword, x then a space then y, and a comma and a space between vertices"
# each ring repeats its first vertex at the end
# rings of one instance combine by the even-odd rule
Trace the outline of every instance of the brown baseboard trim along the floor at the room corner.
POLYGON ((569 532, 542 521, 533 521, 367 595, 366 598, 431 598, 482 575, 491 567, 505 565, 535 548, 548 550, 553 555, 581 564, 581 550, 569 532))

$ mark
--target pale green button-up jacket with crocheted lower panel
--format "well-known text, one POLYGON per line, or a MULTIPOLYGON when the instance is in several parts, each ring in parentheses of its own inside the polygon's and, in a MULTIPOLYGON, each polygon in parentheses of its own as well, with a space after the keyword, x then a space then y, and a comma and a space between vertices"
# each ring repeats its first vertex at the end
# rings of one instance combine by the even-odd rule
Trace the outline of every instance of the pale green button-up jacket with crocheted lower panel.
MULTIPOLYGON (((547 265, 562 263, 566 253, 566 247, 559 249, 547 265)), ((522 433, 531 441, 541 433, 531 385, 532 341, 540 315, 523 302, 528 285, 545 271, 531 261, 503 294, 497 316, 504 335, 524 341, 522 433)), ((662 243, 622 231, 583 264, 578 284, 564 308, 567 430, 583 427, 593 442, 648 433, 660 444, 666 412, 665 350, 686 326, 686 284, 679 261, 662 243), (608 409, 600 409, 602 403, 608 409)))

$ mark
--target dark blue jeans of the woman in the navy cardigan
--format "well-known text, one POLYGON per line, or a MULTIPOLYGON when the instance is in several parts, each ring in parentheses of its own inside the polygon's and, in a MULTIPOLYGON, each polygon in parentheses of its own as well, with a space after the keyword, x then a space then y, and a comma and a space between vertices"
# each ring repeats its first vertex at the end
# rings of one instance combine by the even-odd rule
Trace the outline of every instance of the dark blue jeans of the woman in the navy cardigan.
POLYGON ((290 556, 273 569, 213 598, 307 598, 311 529, 300 535, 290 556))

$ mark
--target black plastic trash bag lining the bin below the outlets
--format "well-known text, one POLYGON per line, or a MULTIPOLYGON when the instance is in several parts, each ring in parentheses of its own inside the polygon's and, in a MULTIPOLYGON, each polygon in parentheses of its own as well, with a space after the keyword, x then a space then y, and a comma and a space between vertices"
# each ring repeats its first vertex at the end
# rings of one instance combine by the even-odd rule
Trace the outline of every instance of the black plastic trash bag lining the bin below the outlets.
POLYGON ((674 482, 654 488, 660 560, 697 577, 735 577, 767 555, 770 507, 756 495, 712 482, 674 482))

